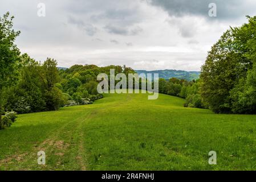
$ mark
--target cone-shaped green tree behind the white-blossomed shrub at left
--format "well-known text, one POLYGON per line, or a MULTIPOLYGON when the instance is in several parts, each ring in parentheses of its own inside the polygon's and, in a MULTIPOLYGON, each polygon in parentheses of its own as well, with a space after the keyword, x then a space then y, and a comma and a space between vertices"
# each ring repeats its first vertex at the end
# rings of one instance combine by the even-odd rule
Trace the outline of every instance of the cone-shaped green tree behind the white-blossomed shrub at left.
POLYGON ((44 110, 45 102, 43 100, 42 80, 38 72, 40 71, 40 64, 31 59, 26 53, 21 56, 21 67, 19 69, 18 82, 8 92, 7 109, 15 110, 18 113, 25 113, 26 110, 19 110, 19 108, 29 107, 30 111, 44 110), (24 106, 17 105, 19 100, 23 100, 24 106))

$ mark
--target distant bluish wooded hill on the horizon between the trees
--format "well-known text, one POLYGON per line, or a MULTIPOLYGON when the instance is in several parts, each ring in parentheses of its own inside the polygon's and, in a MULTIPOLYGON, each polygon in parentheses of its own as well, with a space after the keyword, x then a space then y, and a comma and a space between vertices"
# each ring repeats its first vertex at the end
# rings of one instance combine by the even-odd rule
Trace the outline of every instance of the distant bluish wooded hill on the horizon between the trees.
POLYGON ((139 75, 140 73, 159 73, 160 78, 168 80, 169 78, 179 78, 184 80, 197 80, 200 76, 200 72, 197 71, 181 71, 175 69, 165 69, 165 70, 155 70, 155 71, 145 71, 145 70, 135 70, 139 75))

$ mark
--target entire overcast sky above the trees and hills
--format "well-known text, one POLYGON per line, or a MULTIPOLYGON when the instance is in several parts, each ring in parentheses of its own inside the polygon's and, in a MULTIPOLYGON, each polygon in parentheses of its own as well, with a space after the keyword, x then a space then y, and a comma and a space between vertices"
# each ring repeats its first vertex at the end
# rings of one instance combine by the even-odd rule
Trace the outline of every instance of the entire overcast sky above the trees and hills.
POLYGON ((18 47, 36 60, 199 71, 229 26, 256 15, 255 0, 1 0, 21 30, 18 47), (39 3, 44 3, 46 16, 39 3), (216 3, 217 16, 209 16, 216 3))

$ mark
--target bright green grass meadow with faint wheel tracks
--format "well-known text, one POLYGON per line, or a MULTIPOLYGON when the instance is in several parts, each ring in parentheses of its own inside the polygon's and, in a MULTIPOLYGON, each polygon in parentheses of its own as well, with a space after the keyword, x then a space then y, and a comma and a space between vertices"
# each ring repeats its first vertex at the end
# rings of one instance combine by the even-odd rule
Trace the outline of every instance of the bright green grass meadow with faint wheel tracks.
POLYGON ((18 115, 0 131, 0 169, 256 169, 256 115, 183 104, 163 94, 107 94, 92 105, 18 115), (37 164, 40 150, 44 166, 37 164), (208 164, 212 150, 217 165, 208 164))

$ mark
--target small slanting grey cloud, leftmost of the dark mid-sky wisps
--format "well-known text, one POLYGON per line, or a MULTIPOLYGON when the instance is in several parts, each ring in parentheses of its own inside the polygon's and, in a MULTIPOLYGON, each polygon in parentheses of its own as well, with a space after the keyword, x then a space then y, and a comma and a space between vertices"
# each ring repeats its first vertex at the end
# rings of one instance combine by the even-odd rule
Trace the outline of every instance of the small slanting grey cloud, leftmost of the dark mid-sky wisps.
POLYGON ((85 31, 87 35, 89 36, 94 36, 97 32, 97 28, 94 27, 92 24, 90 23, 85 23, 83 22, 83 20, 80 19, 75 19, 70 17, 68 19, 68 22, 71 24, 75 24, 76 26, 78 26, 78 28, 80 28, 81 30, 85 31))

